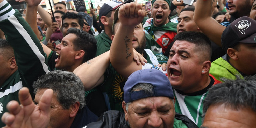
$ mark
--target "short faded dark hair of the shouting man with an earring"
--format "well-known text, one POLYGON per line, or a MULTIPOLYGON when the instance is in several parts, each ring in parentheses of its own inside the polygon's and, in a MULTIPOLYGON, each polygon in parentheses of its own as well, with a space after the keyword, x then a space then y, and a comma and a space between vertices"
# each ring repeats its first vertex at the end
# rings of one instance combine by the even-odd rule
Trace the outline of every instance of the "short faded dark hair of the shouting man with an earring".
POLYGON ((211 55, 212 55, 211 41, 203 33, 194 32, 194 31, 183 31, 178 33, 174 37, 174 42, 176 40, 188 41, 190 43, 195 44, 196 45, 195 51, 199 51, 199 52, 203 51, 204 53, 208 53, 208 55, 206 55, 207 60, 211 60, 211 55))

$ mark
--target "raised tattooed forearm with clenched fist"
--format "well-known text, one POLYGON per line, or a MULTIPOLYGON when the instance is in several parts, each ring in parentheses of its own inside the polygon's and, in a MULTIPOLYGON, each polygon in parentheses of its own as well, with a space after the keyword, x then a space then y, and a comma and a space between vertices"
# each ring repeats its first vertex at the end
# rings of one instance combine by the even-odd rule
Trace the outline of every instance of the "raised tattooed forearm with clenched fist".
POLYGON ((119 28, 110 47, 110 62, 116 71, 128 78, 134 71, 142 69, 133 61, 132 38, 134 27, 144 18, 142 6, 136 3, 127 3, 120 7, 118 18, 119 28))

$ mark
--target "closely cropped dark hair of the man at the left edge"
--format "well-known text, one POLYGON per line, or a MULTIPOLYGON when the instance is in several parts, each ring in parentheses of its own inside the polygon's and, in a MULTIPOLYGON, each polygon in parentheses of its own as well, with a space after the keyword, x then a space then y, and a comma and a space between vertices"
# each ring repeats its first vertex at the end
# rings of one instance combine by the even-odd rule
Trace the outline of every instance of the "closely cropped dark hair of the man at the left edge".
POLYGON ((12 46, 5 39, 0 38, 0 55, 3 56, 4 59, 8 60, 14 57, 14 51, 12 46))

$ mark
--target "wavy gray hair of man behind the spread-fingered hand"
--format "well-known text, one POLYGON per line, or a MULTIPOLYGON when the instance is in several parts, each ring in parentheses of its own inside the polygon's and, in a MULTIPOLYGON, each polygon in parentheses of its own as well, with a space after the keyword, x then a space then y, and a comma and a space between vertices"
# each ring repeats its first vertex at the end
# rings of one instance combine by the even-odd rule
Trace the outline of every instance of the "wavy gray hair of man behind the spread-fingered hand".
POLYGON ((62 105, 69 109, 70 105, 80 103, 79 109, 85 106, 85 91, 82 81, 77 75, 68 71, 55 70, 40 76, 33 83, 34 93, 40 89, 51 88, 62 105))

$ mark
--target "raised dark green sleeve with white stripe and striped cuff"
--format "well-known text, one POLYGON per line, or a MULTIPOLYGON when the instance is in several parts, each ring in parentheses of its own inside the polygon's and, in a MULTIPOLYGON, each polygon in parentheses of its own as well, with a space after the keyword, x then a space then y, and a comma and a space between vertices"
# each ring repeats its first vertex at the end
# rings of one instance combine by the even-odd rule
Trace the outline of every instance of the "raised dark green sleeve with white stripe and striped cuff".
POLYGON ((0 29, 14 49, 22 84, 32 88, 39 76, 50 71, 46 54, 29 24, 6 0, 0 3, 0 20, 0 29))

